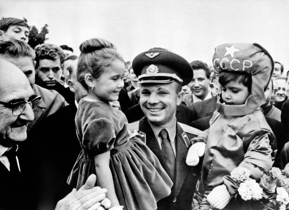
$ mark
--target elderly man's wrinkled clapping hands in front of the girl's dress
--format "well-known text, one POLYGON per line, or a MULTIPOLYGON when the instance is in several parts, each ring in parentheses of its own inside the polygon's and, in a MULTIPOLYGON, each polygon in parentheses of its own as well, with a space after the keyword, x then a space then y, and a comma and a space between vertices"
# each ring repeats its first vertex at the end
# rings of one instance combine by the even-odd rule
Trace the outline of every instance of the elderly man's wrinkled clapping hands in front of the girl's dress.
POLYGON ((94 187, 96 176, 87 178, 85 184, 79 189, 73 189, 67 196, 59 200, 55 210, 97 210, 101 201, 105 199, 107 189, 94 187))

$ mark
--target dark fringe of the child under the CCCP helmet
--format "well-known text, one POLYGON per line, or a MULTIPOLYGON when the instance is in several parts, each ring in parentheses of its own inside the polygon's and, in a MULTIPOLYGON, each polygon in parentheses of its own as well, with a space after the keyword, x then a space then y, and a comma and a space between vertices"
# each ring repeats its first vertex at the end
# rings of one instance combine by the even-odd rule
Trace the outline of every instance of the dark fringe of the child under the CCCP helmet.
POLYGON ((249 93, 251 93, 252 88, 252 76, 247 72, 221 72, 219 75, 219 83, 225 86, 231 81, 238 81, 242 83, 245 87, 248 87, 249 93))

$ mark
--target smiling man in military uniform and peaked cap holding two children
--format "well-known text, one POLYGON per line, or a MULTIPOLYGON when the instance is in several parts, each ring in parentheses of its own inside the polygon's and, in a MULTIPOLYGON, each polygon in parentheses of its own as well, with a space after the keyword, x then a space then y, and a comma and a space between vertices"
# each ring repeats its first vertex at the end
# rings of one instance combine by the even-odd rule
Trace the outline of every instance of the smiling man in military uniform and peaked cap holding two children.
POLYGON ((133 60, 133 70, 140 80, 140 104, 145 114, 138 127, 141 139, 174 183, 171 194, 158 201, 158 209, 191 209, 198 166, 188 166, 185 161, 189 139, 199 130, 178 123, 176 107, 183 99, 182 86, 192 80, 192 67, 175 53, 150 50, 133 60))

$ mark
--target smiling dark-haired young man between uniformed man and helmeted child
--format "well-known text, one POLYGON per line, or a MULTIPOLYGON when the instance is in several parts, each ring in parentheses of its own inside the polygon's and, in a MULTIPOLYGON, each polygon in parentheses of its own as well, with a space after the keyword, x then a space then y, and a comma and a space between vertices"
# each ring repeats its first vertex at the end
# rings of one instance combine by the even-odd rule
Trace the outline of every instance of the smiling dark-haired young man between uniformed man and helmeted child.
POLYGON ((200 60, 195 60, 190 64, 194 72, 194 77, 188 84, 192 94, 185 95, 183 101, 191 108, 192 103, 210 99, 212 94, 209 88, 211 71, 208 65, 200 60))

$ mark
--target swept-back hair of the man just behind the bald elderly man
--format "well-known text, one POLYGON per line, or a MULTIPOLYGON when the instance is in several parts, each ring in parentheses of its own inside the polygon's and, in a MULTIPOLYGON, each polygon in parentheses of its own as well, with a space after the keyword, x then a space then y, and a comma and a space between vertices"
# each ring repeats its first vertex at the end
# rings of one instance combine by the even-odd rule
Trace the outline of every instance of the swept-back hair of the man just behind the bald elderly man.
POLYGON ((0 43, 0 54, 9 57, 30 57, 32 61, 35 59, 34 50, 25 42, 19 40, 2 41, 0 43))

